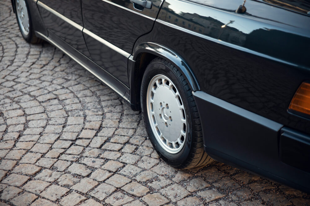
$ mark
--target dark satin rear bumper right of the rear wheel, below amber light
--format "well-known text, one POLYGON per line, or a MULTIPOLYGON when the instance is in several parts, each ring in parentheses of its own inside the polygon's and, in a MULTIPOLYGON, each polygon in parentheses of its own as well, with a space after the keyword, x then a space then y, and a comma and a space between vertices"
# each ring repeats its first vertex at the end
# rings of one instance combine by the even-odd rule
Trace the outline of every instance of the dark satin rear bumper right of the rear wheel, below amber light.
POLYGON ((202 91, 193 92, 215 160, 310 193, 310 136, 202 91))

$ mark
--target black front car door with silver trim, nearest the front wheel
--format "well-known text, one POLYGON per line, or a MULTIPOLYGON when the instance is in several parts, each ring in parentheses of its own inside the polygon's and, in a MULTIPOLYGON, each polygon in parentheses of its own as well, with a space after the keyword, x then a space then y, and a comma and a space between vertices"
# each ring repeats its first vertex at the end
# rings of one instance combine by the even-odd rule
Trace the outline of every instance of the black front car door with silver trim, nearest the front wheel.
POLYGON ((89 57, 83 38, 81 0, 40 0, 38 8, 47 27, 48 36, 58 36, 89 57))

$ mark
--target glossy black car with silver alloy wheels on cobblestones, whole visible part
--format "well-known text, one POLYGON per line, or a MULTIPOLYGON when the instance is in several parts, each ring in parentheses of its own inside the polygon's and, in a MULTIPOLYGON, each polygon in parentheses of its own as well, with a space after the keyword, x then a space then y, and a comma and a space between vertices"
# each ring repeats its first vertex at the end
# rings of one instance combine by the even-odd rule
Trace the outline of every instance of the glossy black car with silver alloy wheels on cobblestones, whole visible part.
POLYGON ((310 192, 307 0, 12 0, 46 40, 143 112, 162 159, 213 159, 310 192))

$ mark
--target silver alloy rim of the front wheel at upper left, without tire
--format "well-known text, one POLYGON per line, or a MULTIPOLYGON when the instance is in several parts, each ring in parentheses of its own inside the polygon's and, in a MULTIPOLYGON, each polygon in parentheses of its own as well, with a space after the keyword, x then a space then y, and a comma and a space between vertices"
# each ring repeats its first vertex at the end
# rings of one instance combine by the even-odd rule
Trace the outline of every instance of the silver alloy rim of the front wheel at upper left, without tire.
POLYGON ((24 36, 29 34, 29 15, 25 0, 15 0, 18 23, 24 36))

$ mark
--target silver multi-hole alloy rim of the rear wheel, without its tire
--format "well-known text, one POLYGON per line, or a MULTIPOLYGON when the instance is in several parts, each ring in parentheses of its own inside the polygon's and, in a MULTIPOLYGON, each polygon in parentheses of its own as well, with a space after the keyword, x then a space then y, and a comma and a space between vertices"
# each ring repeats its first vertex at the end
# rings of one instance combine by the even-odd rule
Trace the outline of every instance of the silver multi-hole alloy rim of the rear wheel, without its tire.
POLYGON ((167 152, 178 153, 185 144, 187 121, 184 104, 173 82, 162 74, 153 77, 146 103, 157 141, 167 152))

